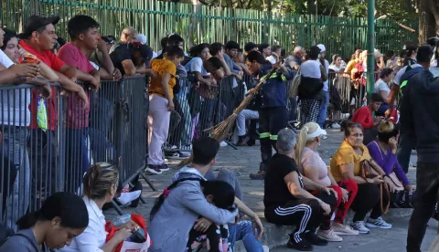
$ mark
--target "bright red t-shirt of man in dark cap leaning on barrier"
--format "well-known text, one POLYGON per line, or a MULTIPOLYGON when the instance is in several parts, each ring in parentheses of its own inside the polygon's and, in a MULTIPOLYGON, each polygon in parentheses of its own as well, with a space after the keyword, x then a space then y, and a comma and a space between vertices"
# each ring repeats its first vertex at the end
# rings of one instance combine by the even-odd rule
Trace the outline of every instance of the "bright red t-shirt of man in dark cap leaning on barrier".
MULTIPOLYGON (((31 47, 26 43, 25 40, 20 41, 20 46, 23 47, 30 54, 35 55, 39 60, 44 62, 44 64, 48 65, 49 68, 59 72, 62 66, 65 65, 64 61, 57 58, 57 56, 52 51, 44 51, 38 52, 34 47, 31 47)), ((29 109, 31 114, 31 122, 29 125, 30 129, 38 129, 39 126, 37 124, 37 101, 39 100, 39 96, 35 90, 32 90, 32 100, 30 101, 29 109)), ((50 99, 46 100, 46 110, 48 112, 48 129, 55 131, 55 127, 57 124, 57 113, 55 104, 58 102, 57 89, 52 88, 52 95, 50 99)))

